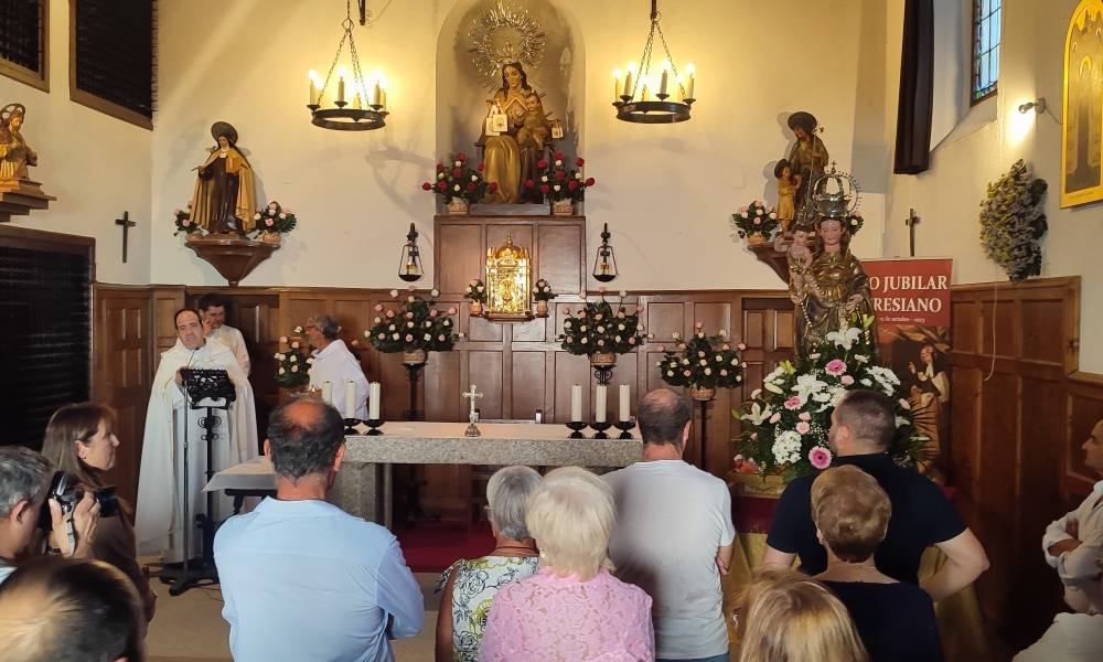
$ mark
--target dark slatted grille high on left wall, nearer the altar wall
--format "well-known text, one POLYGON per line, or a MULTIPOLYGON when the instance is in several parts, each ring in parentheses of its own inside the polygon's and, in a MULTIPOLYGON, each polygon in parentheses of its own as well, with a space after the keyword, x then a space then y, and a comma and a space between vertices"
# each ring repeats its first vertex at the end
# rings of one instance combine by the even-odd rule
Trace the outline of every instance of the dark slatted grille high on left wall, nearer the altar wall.
POLYGON ((151 0, 73 0, 76 88, 153 117, 151 0))

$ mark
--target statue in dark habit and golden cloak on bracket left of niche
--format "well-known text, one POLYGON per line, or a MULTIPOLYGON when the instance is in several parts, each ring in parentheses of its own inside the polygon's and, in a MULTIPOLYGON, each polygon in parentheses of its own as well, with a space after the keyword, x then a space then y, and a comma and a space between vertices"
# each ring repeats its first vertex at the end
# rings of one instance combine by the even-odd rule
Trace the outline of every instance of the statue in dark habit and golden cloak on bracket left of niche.
POLYGON ((237 147, 237 129, 225 121, 211 126, 215 146, 195 170, 192 222, 211 234, 244 235, 255 226, 253 166, 237 147))

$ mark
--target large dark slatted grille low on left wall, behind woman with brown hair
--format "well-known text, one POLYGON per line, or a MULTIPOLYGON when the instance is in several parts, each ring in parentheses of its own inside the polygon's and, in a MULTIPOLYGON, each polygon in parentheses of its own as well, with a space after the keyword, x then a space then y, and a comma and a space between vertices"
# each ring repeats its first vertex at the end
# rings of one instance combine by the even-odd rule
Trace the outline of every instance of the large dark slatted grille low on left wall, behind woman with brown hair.
POLYGON ((0 444, 42 446, 53 412, 88 399, 87 253, 0 244, 0 444))

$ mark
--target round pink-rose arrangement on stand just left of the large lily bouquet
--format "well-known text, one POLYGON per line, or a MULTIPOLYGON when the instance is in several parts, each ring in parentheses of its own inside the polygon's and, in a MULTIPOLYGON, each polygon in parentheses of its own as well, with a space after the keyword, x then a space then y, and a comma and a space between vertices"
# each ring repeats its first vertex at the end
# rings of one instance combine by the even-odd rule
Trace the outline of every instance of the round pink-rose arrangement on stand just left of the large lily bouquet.
POLYGON ((705 335, 700 322, 694 324, 693 335, 683 340, 674 334, 678 343, 677 352, 658 348, 664 356, 655 365, 660 376, 671 386, 696 388, 735 388, 742 381, 747 367, 739 352, 747 345, 739 343, 735 349, 728 343, 727 331, 720 329, 716 335, 705 335))

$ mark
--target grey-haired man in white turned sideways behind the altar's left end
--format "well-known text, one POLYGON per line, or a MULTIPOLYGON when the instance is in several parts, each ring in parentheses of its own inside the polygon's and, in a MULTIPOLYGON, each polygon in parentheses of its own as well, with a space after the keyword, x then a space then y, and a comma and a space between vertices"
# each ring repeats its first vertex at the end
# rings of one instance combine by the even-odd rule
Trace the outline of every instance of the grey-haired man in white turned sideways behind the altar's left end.
POLYGON ((310 387, 332 393, 330 404, 341 416, 349 418, 346 389, 349 382, 353 383, 356 394, 353 418, 367 418, 367 377, 360 366, 360 361, 349 351, 344 341, 338 338, 341 327, 328 314, 319 314, 307 321, 304 333, 310 344, 315 348, 314 364, 310 366, 310 387), (325 382, 330 388, 324 388, 325 382))

